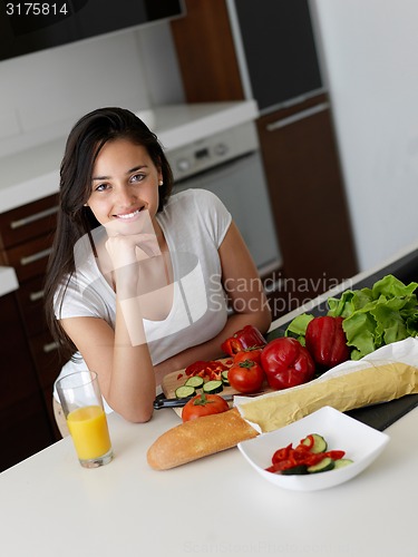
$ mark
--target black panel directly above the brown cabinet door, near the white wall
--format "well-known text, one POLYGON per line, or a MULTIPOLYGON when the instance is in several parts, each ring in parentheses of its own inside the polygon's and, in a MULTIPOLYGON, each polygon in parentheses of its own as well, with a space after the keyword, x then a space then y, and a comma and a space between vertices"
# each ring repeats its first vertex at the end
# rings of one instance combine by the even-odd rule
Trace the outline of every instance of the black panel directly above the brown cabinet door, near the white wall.
POLYGON ((322 88, 308 0, 232 0, 260 110, 322 88))

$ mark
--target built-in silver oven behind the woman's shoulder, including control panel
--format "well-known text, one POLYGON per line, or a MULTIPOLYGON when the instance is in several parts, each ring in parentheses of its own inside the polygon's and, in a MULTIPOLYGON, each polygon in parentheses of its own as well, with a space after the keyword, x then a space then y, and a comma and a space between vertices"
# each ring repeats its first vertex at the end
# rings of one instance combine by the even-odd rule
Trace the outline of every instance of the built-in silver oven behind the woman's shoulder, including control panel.
POLYGON ((167 153, 174 192, 203 188, 225 204, 260 275, 281 266, 254 121, 245 121, 167 153))

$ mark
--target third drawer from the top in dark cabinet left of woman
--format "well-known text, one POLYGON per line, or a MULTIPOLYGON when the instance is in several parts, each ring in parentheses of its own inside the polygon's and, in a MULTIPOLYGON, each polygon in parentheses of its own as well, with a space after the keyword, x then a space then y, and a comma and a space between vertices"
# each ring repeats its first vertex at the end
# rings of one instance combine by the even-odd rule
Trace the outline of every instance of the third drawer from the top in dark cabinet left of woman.
POLYGON ((16 291, 25 328, 29 336, 47 330, 43 309, 43 274, 38 275, 26 281, 16 291))

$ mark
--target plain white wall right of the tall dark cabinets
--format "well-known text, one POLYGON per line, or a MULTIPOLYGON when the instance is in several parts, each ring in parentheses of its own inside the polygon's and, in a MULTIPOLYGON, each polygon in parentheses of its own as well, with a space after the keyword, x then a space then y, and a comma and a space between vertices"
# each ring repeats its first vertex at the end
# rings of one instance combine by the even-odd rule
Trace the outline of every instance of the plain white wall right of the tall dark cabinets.
POLYGON ((366 270, 418 240, 418 2, 311 4, 366 270))

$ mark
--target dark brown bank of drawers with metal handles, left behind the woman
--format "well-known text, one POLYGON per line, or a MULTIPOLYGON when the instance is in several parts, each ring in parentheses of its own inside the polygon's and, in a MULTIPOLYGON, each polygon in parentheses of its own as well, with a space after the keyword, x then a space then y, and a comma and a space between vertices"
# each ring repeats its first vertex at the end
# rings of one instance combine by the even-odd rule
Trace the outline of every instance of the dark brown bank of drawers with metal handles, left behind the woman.
MULTIPOLYGON (((46 324, 42 287, 56 213, 57 195, 50 195, 0 214, 0 264, 13 267, 19 281, 13 293, 14 317, 8 329, 16 329, 13 353, 28 352, 51 431, 50 442, 60 438, 52 411, 52 389, 62 362, 46 324)), ((8 349, 3 339, 1 346, 8 349)))

